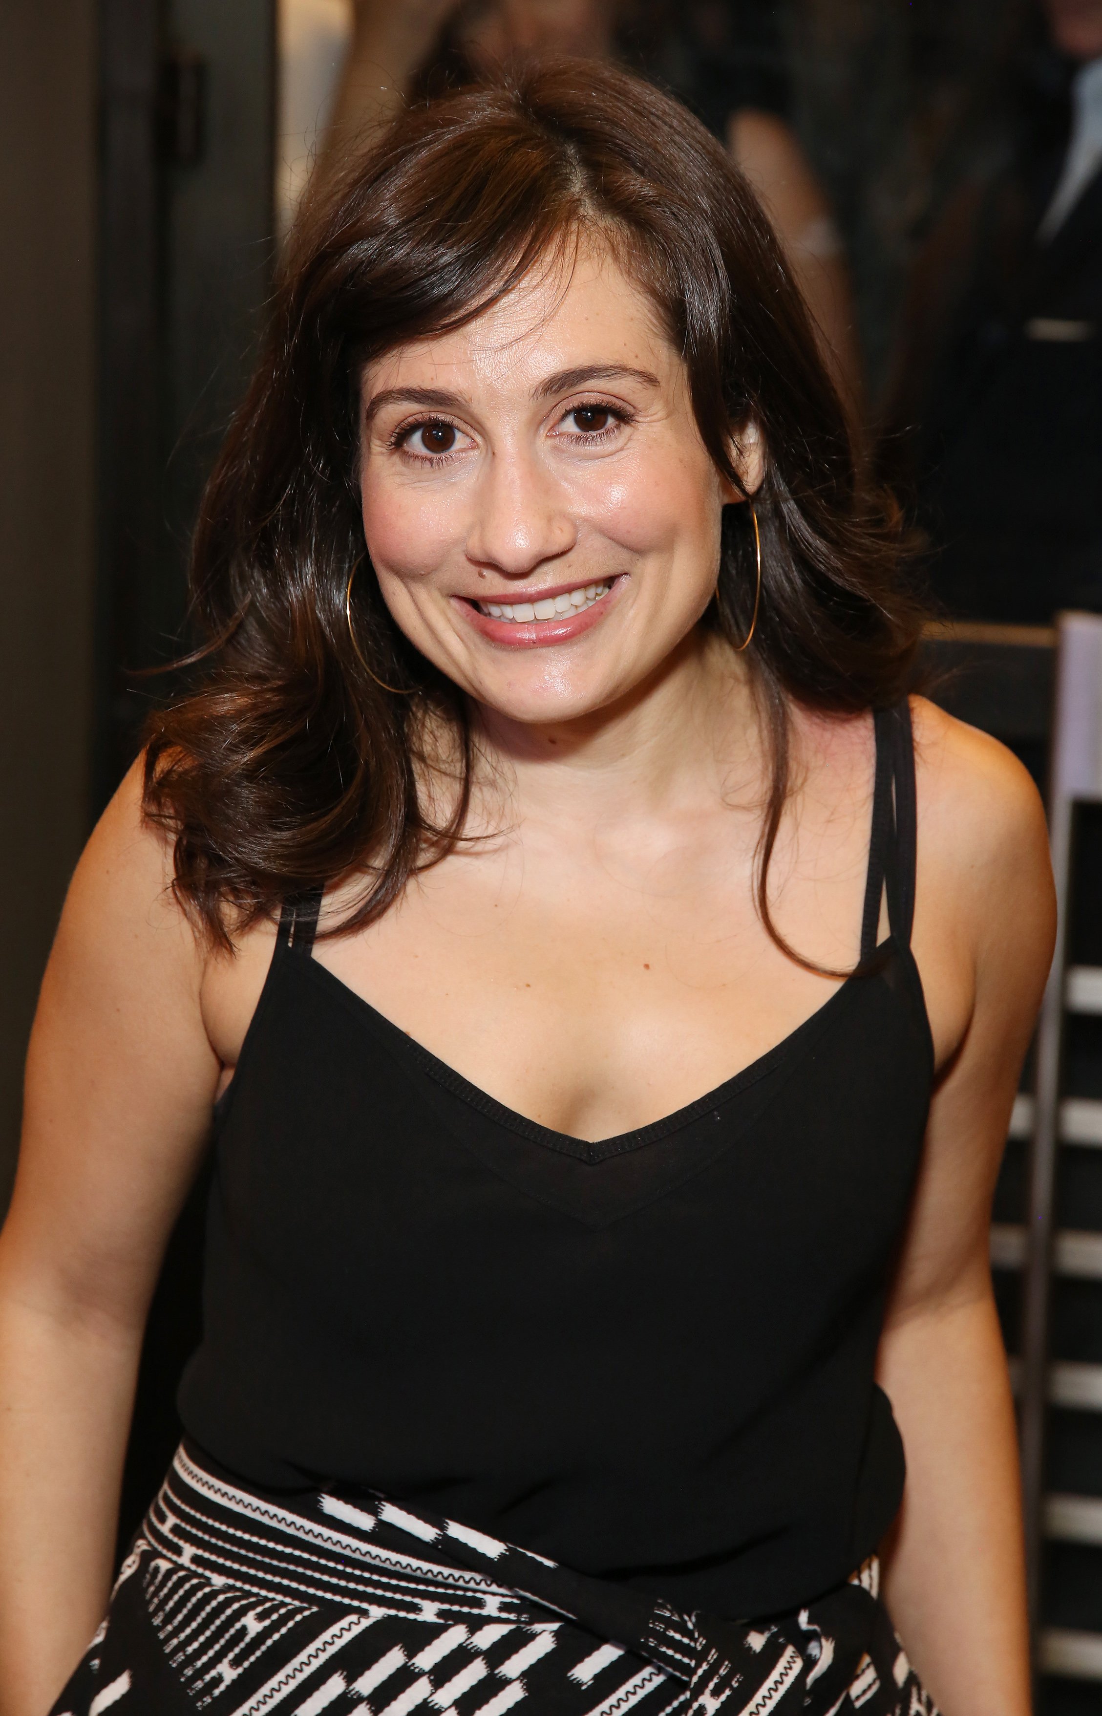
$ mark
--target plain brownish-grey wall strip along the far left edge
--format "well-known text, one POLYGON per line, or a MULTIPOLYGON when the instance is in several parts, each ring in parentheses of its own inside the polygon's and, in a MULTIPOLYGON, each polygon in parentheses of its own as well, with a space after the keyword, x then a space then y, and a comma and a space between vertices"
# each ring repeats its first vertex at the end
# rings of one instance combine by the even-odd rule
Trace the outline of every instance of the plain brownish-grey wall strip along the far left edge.
POLYGON ((0 1206, 88 832, 94 67, 93 0, 0 5, 0 1206))

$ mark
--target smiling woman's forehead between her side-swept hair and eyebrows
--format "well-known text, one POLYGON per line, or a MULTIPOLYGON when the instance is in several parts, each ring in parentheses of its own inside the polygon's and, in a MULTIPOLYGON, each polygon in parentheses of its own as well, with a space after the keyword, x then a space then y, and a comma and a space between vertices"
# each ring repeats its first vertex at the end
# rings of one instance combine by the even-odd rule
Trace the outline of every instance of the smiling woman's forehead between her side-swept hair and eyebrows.
POLYGON ((683 372, 652 299, 604 247, 582 244, 532 269, 465 328, 381 353, 364 371, 364 391, 445 374, 451 386, 529 390, 589 364, 651 371, 663 386, 683 372))

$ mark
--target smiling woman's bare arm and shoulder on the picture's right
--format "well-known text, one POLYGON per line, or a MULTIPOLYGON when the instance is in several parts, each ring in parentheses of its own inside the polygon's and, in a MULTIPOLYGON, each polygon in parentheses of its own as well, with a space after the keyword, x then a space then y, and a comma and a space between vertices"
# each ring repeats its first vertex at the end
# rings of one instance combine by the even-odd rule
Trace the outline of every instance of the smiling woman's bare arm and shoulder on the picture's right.
POLYGON ((884 1596, 944 1716, 1028 1716, 1018 1440, 990 1203, 1056 932, 1037 791, 982 734, 917 707, 915 954, 942 1057, 879 1381, 906 1448, 884 1596))

